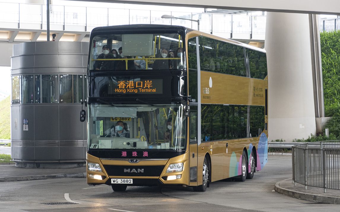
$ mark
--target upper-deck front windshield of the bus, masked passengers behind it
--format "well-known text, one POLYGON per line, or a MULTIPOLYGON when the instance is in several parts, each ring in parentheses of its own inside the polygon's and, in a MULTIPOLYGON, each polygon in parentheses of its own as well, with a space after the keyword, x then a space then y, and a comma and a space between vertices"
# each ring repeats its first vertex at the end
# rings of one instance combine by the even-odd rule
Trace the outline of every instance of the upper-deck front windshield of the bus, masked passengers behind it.
POLYGON ((91 40, 89 70, 184 70, 181 35, 106 34, 91 40))

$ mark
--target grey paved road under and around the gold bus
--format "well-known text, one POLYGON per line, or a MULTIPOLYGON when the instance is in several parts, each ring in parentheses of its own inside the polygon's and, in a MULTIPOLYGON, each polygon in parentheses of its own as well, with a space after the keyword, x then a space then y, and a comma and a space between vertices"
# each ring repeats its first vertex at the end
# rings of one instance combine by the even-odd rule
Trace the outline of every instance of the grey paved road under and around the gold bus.
POLYGON ((273 191, 291 177, 291 156, 269 156, 264 170, 245 182, 213 182, 206 192, 192 188, 87 186, 85 178, 0 183, 3 211, 339 211, 338 205, 317 204, 273 191))

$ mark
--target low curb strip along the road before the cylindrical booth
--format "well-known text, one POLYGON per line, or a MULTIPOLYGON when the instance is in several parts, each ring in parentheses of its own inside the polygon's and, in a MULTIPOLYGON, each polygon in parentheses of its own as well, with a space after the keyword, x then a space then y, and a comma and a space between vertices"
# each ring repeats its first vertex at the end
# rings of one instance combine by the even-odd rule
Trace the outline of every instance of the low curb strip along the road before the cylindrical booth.
POLYGON ((74 173, 74 174, 49 174, 49 175, 35 175, 35 176, 19 176, 19 177, 0 177, 0 182, 42 180, 42 179, 56 179, 56 178, 84 178, 84 177, 86 177, 86 172, 74 173))

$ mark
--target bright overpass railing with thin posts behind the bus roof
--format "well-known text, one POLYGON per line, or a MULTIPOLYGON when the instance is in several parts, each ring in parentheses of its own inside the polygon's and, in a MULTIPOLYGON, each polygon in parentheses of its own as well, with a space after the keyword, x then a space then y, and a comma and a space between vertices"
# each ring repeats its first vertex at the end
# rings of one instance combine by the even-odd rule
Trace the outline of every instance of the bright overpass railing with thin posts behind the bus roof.
MULTIPOLYGON (((0 28, 46 29, 46 5, 0 3, 0 28)), ((183 25, 197 29, 190 20, 162 19, 162 15, 200 20, 200 30, 222 37, 264 40, 266 16, 169 12, 121 8, 50 5, 50 28, 55 31, 90 32, 97 26, 123 24, 183 25)))

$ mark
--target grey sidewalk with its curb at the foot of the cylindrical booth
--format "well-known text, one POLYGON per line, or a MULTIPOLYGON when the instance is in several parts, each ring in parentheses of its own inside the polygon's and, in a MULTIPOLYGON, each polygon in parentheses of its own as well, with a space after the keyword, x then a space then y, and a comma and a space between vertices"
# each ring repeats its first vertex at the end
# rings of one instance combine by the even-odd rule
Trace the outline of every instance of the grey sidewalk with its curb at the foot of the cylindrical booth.
POLYGON ((0 165, 0 182, 86 177, 86 166, 68 169, 26 169, 11 165, 0 165))

